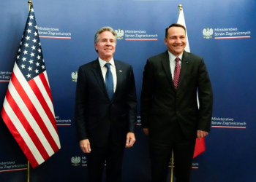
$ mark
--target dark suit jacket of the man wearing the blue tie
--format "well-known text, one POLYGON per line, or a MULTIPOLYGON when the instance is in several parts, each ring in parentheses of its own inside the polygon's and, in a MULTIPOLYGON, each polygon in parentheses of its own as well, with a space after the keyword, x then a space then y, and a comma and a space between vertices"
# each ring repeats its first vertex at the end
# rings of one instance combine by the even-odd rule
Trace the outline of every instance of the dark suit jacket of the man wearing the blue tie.
POLYGON ((120 60, 116 65, 116 92, 108 98, 99 60, 80 66, 75 99, 77 140, 89 139, 102 146, 111 137, 125 143, 127 132, 135 132, 137 97, 132 66, 120 60))

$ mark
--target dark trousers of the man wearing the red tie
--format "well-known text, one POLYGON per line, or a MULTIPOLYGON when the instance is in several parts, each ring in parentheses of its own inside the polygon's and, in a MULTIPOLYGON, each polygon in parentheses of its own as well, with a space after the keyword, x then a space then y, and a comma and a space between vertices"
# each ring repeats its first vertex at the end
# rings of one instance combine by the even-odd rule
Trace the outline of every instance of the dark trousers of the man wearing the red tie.
POLYGON ((178 122, 176 122, 170 141, 157 141, 154 138, 151 138, 149 141, 151 177, 153 182, 167 181, 168 165, 172 150, 176 182, 189 182, 195 140, 189 141, 185 137, 178 122))

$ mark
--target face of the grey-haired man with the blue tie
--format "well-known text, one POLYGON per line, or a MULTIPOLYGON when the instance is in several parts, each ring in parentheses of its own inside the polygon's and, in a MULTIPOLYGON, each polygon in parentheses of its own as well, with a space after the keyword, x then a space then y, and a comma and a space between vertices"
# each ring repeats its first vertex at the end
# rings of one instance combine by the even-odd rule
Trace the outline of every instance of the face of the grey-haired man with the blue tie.
POLYGON ((99 41, 94 44, 98 51, 99 58, 109 61, 116 50, 116 39, 110 31, 103 31, 99 34, 99 41))

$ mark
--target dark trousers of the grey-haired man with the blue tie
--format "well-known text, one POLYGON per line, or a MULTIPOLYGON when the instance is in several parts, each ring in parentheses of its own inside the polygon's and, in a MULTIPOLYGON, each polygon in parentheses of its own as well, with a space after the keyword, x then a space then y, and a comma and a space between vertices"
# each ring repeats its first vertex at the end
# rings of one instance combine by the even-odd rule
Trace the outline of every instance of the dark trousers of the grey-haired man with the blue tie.
POLYGON ((121 166, 124 156, 124 144, 116 145, 110 139, 104 146, 91 146, 86 154, 90 182, 102 182, 106 162, 106 181, 121 181, 121 166))

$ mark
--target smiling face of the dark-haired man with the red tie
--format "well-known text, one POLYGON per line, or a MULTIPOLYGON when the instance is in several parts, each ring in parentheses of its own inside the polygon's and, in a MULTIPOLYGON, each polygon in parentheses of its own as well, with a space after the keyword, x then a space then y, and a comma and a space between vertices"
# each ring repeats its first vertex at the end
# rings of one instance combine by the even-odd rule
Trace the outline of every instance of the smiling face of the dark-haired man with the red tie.
POLYGON ((181 27, 173 26, 168 30, 168 36, 165 38, 165 45, 170 53, 178 57, 184 51, 187 44, 185 30, 181 27))

